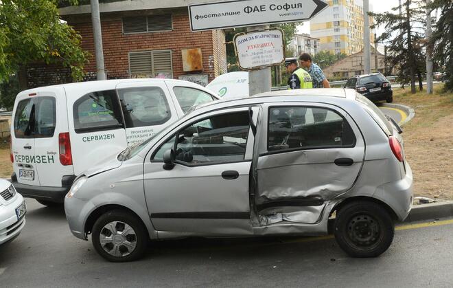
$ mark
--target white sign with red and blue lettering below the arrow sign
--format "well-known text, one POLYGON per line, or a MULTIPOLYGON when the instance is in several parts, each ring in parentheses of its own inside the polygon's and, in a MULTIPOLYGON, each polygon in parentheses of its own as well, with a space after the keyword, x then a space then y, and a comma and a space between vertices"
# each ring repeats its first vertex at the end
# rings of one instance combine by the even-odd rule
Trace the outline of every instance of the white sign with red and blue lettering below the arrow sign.
POLYGON ((277 65, 285 60, 281 30, 237 34, 234 45, 237 63, 244 70, 277 65))

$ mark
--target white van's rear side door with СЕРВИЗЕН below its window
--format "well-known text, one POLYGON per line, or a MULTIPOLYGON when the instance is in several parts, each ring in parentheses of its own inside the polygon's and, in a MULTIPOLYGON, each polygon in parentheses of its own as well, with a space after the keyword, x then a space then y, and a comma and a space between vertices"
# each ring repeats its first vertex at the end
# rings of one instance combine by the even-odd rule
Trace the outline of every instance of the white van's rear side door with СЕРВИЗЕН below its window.
MULTIPOLYGON (((124 150, 126 131, 115 89, 68 96, 74 174, 124 150), (72 100, 73 99, 73 100, 72 100)), ((78 93, 78 91, 71 91, 78 93)))

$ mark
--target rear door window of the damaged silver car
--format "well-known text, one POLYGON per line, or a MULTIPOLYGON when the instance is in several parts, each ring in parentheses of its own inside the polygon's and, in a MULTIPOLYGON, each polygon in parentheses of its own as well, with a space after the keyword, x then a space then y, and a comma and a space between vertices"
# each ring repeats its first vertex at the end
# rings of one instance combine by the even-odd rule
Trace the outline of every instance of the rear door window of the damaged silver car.
POLYGON ((268 151, 351 147, 356 137, 336 111, 314 107, 271 107, 268 151))

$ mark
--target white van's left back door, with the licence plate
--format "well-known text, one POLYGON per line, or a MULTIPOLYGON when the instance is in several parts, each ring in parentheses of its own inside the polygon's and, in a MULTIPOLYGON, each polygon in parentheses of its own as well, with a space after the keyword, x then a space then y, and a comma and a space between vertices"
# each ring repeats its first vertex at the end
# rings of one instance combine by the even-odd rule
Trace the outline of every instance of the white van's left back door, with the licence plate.
POLYGON ((13 169, 17 181, 25 185, 39 185, 34 154, 34 125, 37 93, 19 93, 14 104, 11 124, 13 169))

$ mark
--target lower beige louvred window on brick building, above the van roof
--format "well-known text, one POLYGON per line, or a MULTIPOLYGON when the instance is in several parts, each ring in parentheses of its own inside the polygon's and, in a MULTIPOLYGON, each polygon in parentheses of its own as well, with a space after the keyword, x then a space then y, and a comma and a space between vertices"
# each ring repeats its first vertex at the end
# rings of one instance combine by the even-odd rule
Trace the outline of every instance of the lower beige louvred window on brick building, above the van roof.
POLYGON ((173 78, 172 50, 129 53, 130 76, 173 78))

